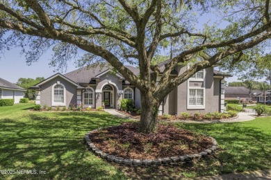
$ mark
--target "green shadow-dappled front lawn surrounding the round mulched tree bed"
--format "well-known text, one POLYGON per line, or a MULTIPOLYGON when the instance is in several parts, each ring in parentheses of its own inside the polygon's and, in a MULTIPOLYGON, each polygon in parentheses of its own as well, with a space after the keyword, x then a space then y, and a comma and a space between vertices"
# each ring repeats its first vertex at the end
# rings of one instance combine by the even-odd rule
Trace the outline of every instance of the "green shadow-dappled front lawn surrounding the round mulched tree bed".
POLYGON ((176 123, 213 136, 220 152, 181 167, 129 168, 99 159, 82 144, 91 129, 124 120, 105 112, 28 111, 31 107, 33 104, 0 107, 0 170, 43 170, 46 174, 0 174, 0 179, 175 179, 271 168, 271 118, 245 123, 176 123))

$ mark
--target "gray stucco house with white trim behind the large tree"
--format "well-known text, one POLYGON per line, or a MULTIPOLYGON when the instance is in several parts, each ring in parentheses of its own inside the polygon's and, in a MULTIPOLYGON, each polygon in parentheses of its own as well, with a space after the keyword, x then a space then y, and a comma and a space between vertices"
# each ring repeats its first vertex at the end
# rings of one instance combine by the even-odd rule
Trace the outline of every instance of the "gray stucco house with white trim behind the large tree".
MULTIPOLYGON (((158 64, 163 73, 169 61, 158 64)), ((126 66, 135 75, 136 67, 126 66)), ((172 77, 183 73, 188 66, 177 65, 172 77)), ((180 114, 189 112, 212 112, 224 110, 224 77, 229 75, 213 70, 213 67, 195 73, 188 81, 172 90, 159 109, 159 114, 180 114)), ((158 76, 158 81, 161 77, 158 76)), ((70 73, 56 73, 36 84, 36 104, 51 107, 69 107, 71 103, 83 107, 106 107, 119 109, 120 100, 134 100, 140 108, 140 91, 119 73, 113 73, 108 66, 102 68, 83 67, 70 73)))

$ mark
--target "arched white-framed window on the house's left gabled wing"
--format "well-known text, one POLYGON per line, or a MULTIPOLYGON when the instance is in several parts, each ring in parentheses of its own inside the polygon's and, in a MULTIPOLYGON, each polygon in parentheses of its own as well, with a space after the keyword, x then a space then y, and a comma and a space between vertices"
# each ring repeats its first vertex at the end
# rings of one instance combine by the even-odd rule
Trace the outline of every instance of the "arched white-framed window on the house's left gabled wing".
POLYGON ((52 106, 65 106, 65 86, 58 82, 52 88, 52 106))

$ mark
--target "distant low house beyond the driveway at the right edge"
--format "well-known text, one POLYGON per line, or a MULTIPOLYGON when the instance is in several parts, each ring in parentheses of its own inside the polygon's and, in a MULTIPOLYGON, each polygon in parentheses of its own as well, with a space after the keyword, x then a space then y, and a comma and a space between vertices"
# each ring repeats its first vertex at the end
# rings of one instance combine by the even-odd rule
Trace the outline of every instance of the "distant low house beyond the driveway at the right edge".
MULTIPOLYGON (((270 100, 271 92, 265 91, 265 100, 270 100)), ((249 101, 249 89, 247 87, 225 87, 225 100, 241 100, 243 102, 249 101)), ((252 90, 252 101, 263 101, 263 91, 255 89, 252 90)))

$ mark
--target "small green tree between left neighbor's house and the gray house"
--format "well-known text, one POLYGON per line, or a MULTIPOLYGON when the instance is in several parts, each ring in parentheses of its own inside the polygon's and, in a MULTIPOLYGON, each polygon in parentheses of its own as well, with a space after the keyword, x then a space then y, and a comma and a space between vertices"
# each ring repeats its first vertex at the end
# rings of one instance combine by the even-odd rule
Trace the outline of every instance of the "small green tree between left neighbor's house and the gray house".
POLYGON ((42 82, 42 80, 44 80, 43 77, 35 78, 35 80, 32 78, 19 78, 19 80, 15 84, 17 84, 19 87, 23 87, 24 89, 26 89, 26 92, 24 93, 25 98, 33 100, 35 99, 35 90, 29 89, 29 87, 32 87, 39 82, 42 82))

